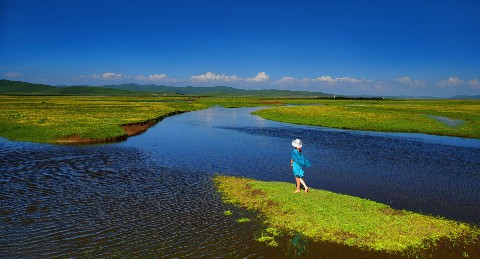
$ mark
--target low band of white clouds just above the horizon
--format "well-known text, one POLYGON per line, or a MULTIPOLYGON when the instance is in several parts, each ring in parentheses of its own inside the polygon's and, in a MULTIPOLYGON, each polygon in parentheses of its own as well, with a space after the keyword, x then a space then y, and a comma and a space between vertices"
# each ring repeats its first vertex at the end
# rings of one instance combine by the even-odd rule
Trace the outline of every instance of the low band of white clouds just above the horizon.
MULTIPOLYGON (((8 74, 8 73, 7 73, 8 74)), ((4 76, 7 76, 4 74, 4 76)), ((19 75, 19 74, 18 74, 19 75)), ((17 76, 14 73, 9 76, 17 76)), ((23 76, 23 75, 22 75, 23 76)), ((332 77, 328 75, 318 77, 296 78, 283 76, 272 80, 266 72, 258 72, 252 77, 240 77, 235 74, 216 74, 206 72, 205 74, 187 76, 182 78, 171 78, 163 73, 150 75, 125 75, 114 72, 80 76, 86 82, 104 84, 105 81, 115 83, 154 83, 174 86, 214 86, 227 85, 244 89, 276 88, 288 90, 320 91, 326 93, 356 95, 432 95, 448 96, 453 94, 475 93, 480 89, 480 82, 477 78, 461 80, 458 77, 435 81, 424 81, 412 79, 408 76, 382 82, 365 78, 353 77, 332 77), (442 89, 439 89, 442 88, 442 89)))

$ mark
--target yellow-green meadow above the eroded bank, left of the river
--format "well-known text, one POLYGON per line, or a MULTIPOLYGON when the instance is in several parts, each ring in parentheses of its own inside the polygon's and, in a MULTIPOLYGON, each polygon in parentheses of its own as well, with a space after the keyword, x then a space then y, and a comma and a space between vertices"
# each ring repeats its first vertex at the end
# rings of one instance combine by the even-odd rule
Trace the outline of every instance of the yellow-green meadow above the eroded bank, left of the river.
POLYGON ((121 125, 204 109, 186 98, 0 96, 0 134, 16 141, 53 143, 69 136, 124 136, 121 125))

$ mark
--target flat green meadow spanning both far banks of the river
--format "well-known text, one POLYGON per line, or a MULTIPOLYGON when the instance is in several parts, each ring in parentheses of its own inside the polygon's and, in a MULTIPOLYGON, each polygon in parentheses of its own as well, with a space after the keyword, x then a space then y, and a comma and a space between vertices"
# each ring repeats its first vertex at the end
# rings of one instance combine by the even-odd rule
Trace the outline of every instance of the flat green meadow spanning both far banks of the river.
POLYGON ((215 105, 272 106, 254 114, 287 123, 480 138, 480 101, 192 96, 0 96, 0 136, 41 143, 71 136, 101 141, 125 136, 125 124, 215 105))

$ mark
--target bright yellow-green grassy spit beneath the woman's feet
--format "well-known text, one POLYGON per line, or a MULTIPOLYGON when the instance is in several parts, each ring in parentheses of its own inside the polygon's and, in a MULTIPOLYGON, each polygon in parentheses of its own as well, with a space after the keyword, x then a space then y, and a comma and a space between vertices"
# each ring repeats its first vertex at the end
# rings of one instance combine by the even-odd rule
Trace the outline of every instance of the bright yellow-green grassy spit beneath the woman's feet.
MULTIPOLYGON (((226 203, 260 211, 270 229, 300 233, 313 241, 402 253, 445 239, 477 245, 480 237, 475 226, 325 190, 294 194, 294 185, 284 182, 230 176, 216 176, 214 181, 226 203)), ((262 235, 269 242, 274 236, 262 235)))

